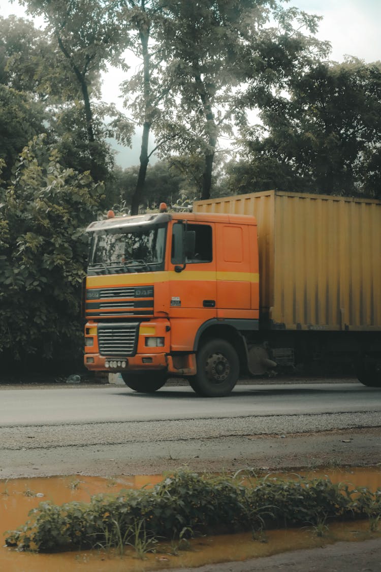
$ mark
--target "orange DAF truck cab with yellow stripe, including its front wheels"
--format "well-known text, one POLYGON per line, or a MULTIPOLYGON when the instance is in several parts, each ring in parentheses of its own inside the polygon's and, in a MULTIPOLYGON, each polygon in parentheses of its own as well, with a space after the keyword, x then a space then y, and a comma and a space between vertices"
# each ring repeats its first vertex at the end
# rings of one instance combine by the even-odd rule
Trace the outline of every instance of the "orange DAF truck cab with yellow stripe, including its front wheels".
POLYGON ((95 221, 84 311, 85 366, 135 391, 169 376, 205 396, 230 393, 259 328, 256 220, 156 213, 95 221))

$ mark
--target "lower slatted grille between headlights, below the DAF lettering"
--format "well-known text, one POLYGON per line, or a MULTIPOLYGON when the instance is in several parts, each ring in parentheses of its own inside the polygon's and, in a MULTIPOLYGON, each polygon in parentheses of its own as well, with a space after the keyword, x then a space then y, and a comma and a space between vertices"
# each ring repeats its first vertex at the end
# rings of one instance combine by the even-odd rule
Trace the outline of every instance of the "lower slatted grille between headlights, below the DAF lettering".
POLYGON ((139 324, 102 324, 98 326, 99 353, 103 356, 133 356, 139 324))

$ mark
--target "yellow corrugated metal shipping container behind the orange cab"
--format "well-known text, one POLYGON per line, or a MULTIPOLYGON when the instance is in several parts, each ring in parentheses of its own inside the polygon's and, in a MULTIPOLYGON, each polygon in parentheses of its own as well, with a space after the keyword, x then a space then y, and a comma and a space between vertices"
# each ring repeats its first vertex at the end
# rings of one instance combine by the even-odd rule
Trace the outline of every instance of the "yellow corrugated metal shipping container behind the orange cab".
POLYGON ((256 217, 265 327, 381 331, 381 201, 269 190, 193 210, 256 217))

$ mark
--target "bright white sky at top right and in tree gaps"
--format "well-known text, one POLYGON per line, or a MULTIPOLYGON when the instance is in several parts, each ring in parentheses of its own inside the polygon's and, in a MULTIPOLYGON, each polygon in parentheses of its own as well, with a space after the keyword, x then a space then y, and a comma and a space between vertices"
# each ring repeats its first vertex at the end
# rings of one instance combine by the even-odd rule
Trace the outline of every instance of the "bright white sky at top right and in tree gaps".
MULTIPOLYGON (((340 62, 346 54, 366 62, 381 59, 381 0, 290 0, 288 6, 323 16, 317 35, 319 39, 331 42, 331 59, 340 62)), ((0 15, 6 18, 10 14, 25 17, 25 11, 17 0, 14 3, 0 0, 0 15)), ((123 78, 120 70, 112 70, 103 81, 103 99, 115 102, 120 109, 122 102, 118 98, 118 86, 123 78)), ((137 164, 138 155, 139 149, 134 144, 132 150, 123 148, 118 162, 123 167, 137 164)))

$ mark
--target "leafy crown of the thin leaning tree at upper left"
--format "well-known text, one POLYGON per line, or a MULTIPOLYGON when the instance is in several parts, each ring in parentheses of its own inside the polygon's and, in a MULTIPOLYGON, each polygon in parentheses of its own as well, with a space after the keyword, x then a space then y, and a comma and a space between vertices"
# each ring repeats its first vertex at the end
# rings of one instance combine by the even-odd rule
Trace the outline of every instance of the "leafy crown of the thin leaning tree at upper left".
MULTIPOLYGON (((85 21, 90 30, 87 33, 82 30, 85 26, 83 6, 77 3, 77 11, 64 26, 68 34, 65 42, 70 43, 70 33, 75 35, 81 29, 85 43, 81 51, 81 41, 75 35, 77 51, 68 59, 54 33, 54 22, 57 23, 54 12, 60 9, 65 6, 55 2, 50 14, 53 21, 43 31, 21 18, 0 18, 0 157, 5 158, 7 164, 5 178, 9 177, 18 153, 40 133, 48 133, 50 142, 55 141, 63 166, 79 172, 90 170, 95 181, 107 180, 114 166, 113 152, 106 138, 116 137, 125 145, 130 142, 131 125, 126 118, 115 106, 93 101, 99 96, 99 70, 105 69, 106 59, 112 59, 119 48, 113 44, 101 50, 95 33, 101 34, 101 31, 94 30, 94 21, 87 21, 88 14, 85 21)), ((112 22, 108 25, 113 27, 112 22)), ((99 26, 102 28, 102 23, 99 26)), ((103 32, 106 33, 104 26, 105 21, 103 32)), ((65 51, 65 46, 62 47, 65 51)))

